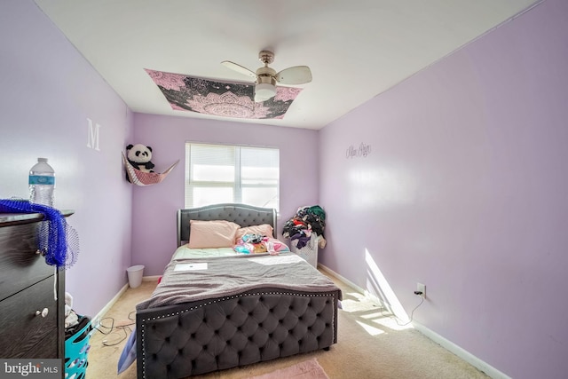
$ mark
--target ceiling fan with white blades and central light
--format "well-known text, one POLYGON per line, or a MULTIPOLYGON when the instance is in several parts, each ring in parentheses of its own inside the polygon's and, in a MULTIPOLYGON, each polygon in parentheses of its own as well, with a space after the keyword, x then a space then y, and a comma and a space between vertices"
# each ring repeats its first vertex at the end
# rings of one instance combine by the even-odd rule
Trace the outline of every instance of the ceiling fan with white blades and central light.
POLYGON ((277 73, 272 67, 268 67, 268 65, 274 61, 274 53, 272 51, 260 51, 258 53, 258 59, 264 63, 264 67, 258 68, 256 72, 229 60, 221 62, 225 67, 255 79, 255 102, 262 102, 273 98, 274 95, 276 95, 276 83, 304 84, 312 82, 312 71, 310 67, 288 67, 277 73))

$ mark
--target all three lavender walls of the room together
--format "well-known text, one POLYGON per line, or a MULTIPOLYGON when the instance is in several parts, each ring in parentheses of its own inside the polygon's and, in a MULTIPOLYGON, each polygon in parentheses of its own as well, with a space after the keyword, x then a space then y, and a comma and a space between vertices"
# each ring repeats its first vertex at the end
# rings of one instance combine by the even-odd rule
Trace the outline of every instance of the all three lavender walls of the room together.
POLYGON ((36 4, 4 0, 0 197, 26 198, 29 168, 50 159, 81 239, 67 290, 95 314, 126 267, 160 274, 175 249, 185 140, 276 146, 280 228, 319 202, 324 265, 406 312, 425 283, 419 323, 507 375, 564 377, 567 19, 547 0, 316 132, 131 114, 36 4), (120 152, 138 142, 158 169, 181 161, 162 184, 124 181, 120 152), (361 143, 370 154, 348 157, 361 143))

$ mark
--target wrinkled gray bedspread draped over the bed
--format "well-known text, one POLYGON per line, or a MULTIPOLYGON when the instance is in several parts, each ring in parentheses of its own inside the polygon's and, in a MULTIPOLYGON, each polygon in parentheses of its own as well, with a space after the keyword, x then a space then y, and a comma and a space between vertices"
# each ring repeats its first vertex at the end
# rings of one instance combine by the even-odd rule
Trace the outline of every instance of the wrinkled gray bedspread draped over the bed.
POLYGON ((293 253, 175 259, 154 294, 138 310, 233 296, 256 288, 335 291, 334 282, 293 253))

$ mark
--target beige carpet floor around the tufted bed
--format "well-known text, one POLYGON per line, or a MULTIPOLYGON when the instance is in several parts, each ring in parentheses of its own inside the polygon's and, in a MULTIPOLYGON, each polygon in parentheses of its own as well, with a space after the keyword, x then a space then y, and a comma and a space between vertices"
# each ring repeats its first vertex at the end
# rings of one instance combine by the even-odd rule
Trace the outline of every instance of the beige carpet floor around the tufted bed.
MULTIPOLYGON (((192 378, 248 379, 310 359, 317 359, 331 379, 488 378, 418 330, 399 326, 396 319, 357 290, 331 279, 343 290, 343 309, 338 313, 338 343, 329 351, 312 351, 192 378)), ((145 280, 138 288, 128 288, 106 312, 99 331, 91 337, 87 379, 136 378, 136 362, 121 375, 116 374, 118 359, 134 328, 136 304, 146 299, 156 284, 155 280, 145 280)))

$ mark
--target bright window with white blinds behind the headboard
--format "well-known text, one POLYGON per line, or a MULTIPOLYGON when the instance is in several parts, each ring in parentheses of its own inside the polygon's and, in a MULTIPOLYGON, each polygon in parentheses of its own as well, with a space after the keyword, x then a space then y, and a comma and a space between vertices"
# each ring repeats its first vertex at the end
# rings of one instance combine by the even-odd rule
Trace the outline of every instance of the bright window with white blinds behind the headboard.
POLYGON ((279 209, 280 151, 185 143, 185 208, 241 202, 279 209))

